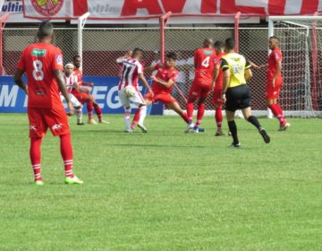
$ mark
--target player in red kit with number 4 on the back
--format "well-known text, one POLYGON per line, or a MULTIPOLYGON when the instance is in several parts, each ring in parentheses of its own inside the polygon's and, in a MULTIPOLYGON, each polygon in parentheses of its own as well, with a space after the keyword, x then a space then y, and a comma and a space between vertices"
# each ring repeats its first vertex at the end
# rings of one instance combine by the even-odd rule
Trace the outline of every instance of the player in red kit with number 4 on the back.
POLYGON ((203 41, 203 48, 198 48, 194 53, 195 76, 187 102, 189 125, 186 133, 199 133, 199 125, 205 113, 205 100, 208 98, 213 82, 214 62, 216 60, 216 51, 212 48, 213 43, 212 39, 205 39, 203 41), (195 100, 198 100, 196 125, 192 122, 193 103, 195 100))

